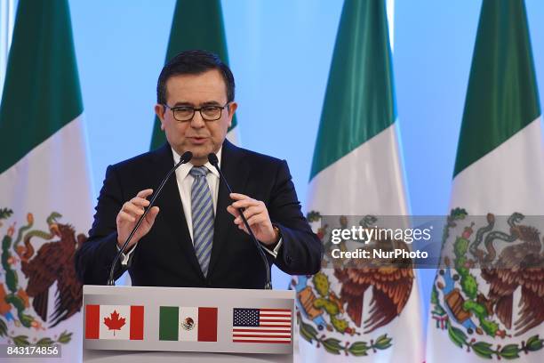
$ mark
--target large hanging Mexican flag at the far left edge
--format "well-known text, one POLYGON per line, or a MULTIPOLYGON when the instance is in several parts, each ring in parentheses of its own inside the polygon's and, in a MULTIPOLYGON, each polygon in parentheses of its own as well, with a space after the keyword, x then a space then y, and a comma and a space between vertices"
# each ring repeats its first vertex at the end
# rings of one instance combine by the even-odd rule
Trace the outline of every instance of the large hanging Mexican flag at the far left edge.
POLYGON ((92 187, 69 14, 66 0, 20 0, 17 10, 0 105, 0 343, 61 344, 73 362, 74 254, 92 222, 92 187))

